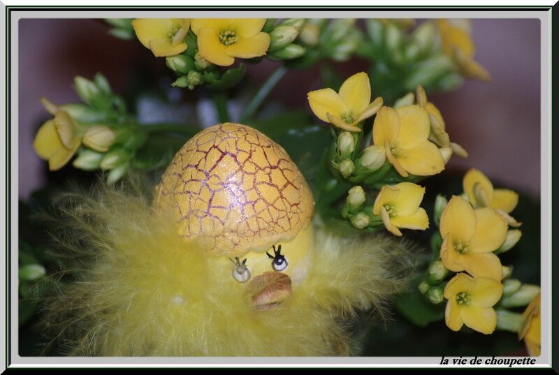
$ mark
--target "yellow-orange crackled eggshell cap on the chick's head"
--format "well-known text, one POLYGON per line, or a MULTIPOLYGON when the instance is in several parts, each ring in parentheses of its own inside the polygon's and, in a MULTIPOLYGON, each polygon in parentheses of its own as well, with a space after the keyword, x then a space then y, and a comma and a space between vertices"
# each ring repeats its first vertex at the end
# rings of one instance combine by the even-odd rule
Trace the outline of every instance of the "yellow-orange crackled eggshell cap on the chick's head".
POLYGON ((314 201, 283 147, 254 128, 224 123, 175 154, 153 206, 173 212, 185 239, 242 256, 293 239, 309 225, 314 201))

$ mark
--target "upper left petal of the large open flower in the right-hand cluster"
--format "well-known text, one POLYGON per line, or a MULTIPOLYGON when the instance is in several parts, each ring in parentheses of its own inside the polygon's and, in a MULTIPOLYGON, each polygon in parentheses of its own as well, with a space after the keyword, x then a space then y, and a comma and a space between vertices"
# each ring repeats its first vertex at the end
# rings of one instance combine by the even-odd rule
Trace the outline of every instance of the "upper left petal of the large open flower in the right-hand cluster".
POLYGON ((454 240, 467 242, 472 238, 477 226, 474 209, 464 198, 453 196, 441 215, 441 236, 452 233, 454 240))

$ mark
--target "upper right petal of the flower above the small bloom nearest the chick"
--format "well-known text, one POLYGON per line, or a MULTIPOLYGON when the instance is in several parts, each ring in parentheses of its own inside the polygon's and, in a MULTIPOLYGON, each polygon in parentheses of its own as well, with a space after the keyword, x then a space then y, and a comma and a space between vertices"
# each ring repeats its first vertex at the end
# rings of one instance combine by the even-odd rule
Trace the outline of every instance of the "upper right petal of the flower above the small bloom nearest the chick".
POLYGON ((400 132, 398 133, 398 144, 402 149, 409 149, 429 138, 430 122, 429 115, 419 105, 407 105, 396 108, 400 118, 400 132))

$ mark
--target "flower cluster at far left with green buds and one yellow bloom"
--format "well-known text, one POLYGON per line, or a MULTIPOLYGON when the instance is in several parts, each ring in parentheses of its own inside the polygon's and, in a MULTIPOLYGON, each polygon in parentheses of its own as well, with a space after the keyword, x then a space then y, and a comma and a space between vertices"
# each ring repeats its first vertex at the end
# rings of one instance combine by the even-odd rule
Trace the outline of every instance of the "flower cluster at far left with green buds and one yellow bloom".
POLYGON ((126 115, 124 101, 112 94, 103 75, 98 73, 93 81, 78 76, 74 84, 85 103, 55 105, 41 99, 53 118, 39 128, 35 152, 50 170, 64 167, 77 153, 75 168, 107 170, 108 182, 115 182, 126 174, 146 134, 126 115))

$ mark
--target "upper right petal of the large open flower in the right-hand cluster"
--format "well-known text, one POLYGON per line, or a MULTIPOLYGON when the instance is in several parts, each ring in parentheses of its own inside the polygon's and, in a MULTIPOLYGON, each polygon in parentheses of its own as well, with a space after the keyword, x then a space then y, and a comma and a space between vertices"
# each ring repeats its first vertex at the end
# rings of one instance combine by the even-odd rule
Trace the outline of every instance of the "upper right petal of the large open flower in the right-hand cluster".
POLYGON ((475 210, 477 226, 470 239, 470 251, 490 253, 499 249, 507 238, 507 223, 492 208, 475 210))

